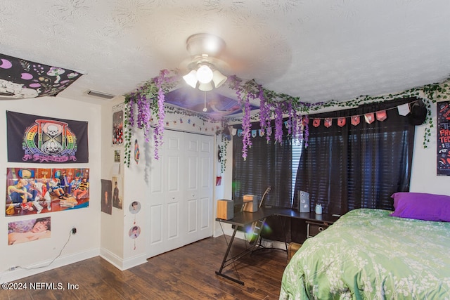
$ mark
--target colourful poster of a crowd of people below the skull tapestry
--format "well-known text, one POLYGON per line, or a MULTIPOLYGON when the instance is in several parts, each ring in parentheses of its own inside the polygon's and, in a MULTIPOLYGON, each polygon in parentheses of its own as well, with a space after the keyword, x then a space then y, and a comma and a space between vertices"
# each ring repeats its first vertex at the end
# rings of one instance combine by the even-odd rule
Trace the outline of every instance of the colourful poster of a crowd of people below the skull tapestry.
POLYGON ((6 169, 6 216, 89 207, 89 169, 6 169))

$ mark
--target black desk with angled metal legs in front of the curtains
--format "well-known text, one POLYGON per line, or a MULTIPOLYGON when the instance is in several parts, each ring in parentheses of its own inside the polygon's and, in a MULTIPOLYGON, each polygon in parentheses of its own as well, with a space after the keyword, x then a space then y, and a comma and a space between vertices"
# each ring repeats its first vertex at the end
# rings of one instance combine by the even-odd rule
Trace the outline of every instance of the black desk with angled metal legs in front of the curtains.
MULTIPOLYGON (((302 219, 306 221, 311 222, 321 222, 328 226, 328 224, 334 223, 339 219, 339 216, 330 215, 330 214, 314 214, 313 212, 298 212, 294 209, 278 209, 278 208, 262 208, 260 207, 255 212, 249 212, 249 211, 240 211, 238 212, 233 219, 230 220, 224 220, 224 219, 216 219, 216 221, 219 221, 220 223, 228 223, 234 226, 233 235, 231 235, 231 240, 228 243, 228 247, 226 247, 226 252, 224 255, 224 259, 222 260, 221 266, 218 271, 216 271, 216 274, 219 276, 222 276, 226 279, 229 279, 233 282, 239 283, 240 285, 244 285, 244 282, 242 280, 238 280, 237 278, 232 278, 229 275, 226 275, 222 273, 224 268, 226 266, 229 266, 231 263, 234 263, 235 261, 238 261, 238 259, 241 259, 243 256, 249 254, 253 251, 253 249, 257 246, 257 242, 255 244, 252 244, 251 247, 248 249, 245 249, 243 252, 240 252, 236 256, 231 256, 229 258, 231 246, 233 244, 233 240, 236 236, 236 232, 238 231, 239 227, 246 227, 251 225, 252 223, 255 223, 257 221, 265 221, 265 219, 269 216, 285 216, 288 218, 296 218, 296 219, 302 219)), ((264 222, 263 221, 263 222, 264 222)), ((223 229, 222 229, 223 230, 223 229)), ((284 231, 284 229, 283 229, 284 231)), ((309 235, 309 233, 308 233, 309 235)), ((259 236, 258 236, 259 238, 259 236)), ((286 249, 287 251, 287 249, 286 249)))

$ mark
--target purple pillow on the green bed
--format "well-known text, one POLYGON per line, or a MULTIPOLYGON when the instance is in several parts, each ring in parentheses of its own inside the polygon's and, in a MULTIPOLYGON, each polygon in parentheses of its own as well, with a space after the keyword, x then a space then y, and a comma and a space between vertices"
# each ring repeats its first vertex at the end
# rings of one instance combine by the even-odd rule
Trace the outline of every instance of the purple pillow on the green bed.
POLYGON ((399 192, 391 197, 395 209, 391 216, 450 222, 450 196, 399 192))

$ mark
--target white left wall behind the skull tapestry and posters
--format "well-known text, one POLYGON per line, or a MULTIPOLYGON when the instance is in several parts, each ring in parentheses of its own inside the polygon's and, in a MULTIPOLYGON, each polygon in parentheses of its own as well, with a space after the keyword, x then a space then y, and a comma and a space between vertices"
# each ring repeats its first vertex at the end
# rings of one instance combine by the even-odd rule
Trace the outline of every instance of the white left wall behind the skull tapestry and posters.
MULTIPOLYGON (((56 211, 40 214, 39 216, 51 216, 51 238, 13 244, 8 246, 8 222, 36 219, 37 214, 30 216, 8 216, 4 211, 0 214, 0 270, 1 282, 8 282, 23 278, 35 273, 40 273, 51 268, 66 265, 75 261, 97 256, 100 246, 100 166, 101 166, 101 106, 90 103, 81 103, 60 97, 43 97, 27 100, 1 100, 0 101, 0 195, 6 197, 6 168, 30 167, 30 168, 54 168, 75 167, 89 168, 90 201, 89 207, 56 211), (6 149, 6 110, 23 112, 30 115, 71 119, 89 122, 89 163, 87 164, 30 164, 27 162, 7 162, 6 149), (70 241, 62 254, 50 266, 25 270, 23 268, 35 268, 46 266, 58 256, 65 242, 68 241, 71 228, 75 226, 77 233, 70 237, 70 241), (21 266, 9 271, 11 266, 21 266)), ((4 198, 5 199, 5 198, 4 198)), ((4 202, 3 202, 4 203, 4 202)))

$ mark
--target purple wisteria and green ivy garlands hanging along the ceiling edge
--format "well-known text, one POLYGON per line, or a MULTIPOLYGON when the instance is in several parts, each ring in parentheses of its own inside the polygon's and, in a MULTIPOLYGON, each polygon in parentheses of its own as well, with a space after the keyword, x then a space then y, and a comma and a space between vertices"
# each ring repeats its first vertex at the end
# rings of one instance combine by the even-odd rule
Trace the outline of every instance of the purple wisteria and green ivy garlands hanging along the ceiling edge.
MULTIPOLYGON (((169 110, 173 111, 173 108, 165 105, 165 93, 174 89, 180 82, 180 75, 177 70, 161 70, 158 77, 154 77, 149 81, 146 81, 136 91, 125 95, 125 116, 124 123, 127 126, 125 133, 125 159, 124 163, 129 167, 130 155, 131 155, 131 131, 134 126, 139 129, 143 129, 146 142, 150 140, 150 126, 154 126, 153 129, 153 141, 154 141, 154 157, 159 158, 158 150, 162 145, 162 134, 165 126, 165 113, 169 110), (152 117, 153 116, 153 117, 152 117), (155 119, 156 124, 153 124, 155 119)), ((416 96, 423 98, 425 106, 427 107, 428 114, 425 119, 427 128, 424 135, 424 148, 427 148, 430 142, 430 135, 432 128, 431 117, 431 103, 435 103, 438 99, 445 99, 450 94, 448 84, 428 84, 421 88, 414 88, 403 91, 397 94, 389 94, 385 96, 359 96, 349 101, 336 101, 329 100, 327 102, 318 103, 304 103, 300 101, 299 97, 293 97, 284 93, 276 93, 269 89, 265 89, 261 84, 252 80, 244 80, 235 76, 230 76, 226 81, 229 88, 236 92, 238 103, 242 107, 243 116, 236 117, 224 117, 228 122, 241 122, 242 131, 238 134, 243 138, 243 150, 242 156, 245 159, 247 157, 248 149, 252 146, 252 132, 250 131, 250 124, 252 120, 259 119, 261 130, 264 131, 267 141, 272 138, 271 134, 271 119, 275 120, 275 134, 274 140, 276 143, 281 143, 283 137, 283 117, 288 116, 288 134, 293 138, 300 138, 304 141, 305 147, 307 147, 308 122, 304 122, 303 119, 307 118, 309 112, 317 111, 325 107, 357 107, 361 104, 371 103, 374 101, 392 100, 395 98, 408 98, 416 96), (259 113, 252 115, 250 112, 250 103, 252 100, 258 99, 259 113), (299 125, 301 124, 301 125, 299 125), (306 125, 306 126, 305 126, 306 125)), ((198 114, 200 115, 200 114, 198 114)), ((203 115, 205 119, 207 115, 203 115)), ((375 115, 365 116, 366 122, 373 122, 375 115)), ((191 120, 188 119, 188 123, 191 120)), ((351 118, 351 124, 356 126, 360 122, 360 116, 354 116, 351 118)), ((339 126, 344 126, 345 121, 341 119, 339 126)), ((313 126, 320 126, 320 120, 313 122, 313 126), (317 123, 319 122, 319 124, 317 123)), ((219 133, 220 131, 217 131, 219 133)), ((219 133, 220 134, 220 133, 219 133)))

